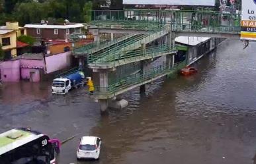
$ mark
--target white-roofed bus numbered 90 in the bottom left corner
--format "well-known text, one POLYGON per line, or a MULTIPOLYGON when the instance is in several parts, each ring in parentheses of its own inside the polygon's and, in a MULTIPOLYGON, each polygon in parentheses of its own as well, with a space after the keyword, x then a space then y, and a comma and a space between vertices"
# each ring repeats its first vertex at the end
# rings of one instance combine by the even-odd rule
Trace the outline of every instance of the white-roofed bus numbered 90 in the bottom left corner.
POLYGON ((30 128, 15 128, 0 134, 1 164, 56 164, 60 140, 30 128))

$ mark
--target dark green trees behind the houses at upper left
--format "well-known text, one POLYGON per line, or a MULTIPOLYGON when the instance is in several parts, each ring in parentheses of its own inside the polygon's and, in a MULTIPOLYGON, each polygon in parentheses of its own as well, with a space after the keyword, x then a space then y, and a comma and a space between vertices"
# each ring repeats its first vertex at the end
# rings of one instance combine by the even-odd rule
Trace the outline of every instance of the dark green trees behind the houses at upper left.
MULTIPOLYGON (((18 21, 21 26, 39 23, 40 20, 69 20, 84 22, 91 14, 86 10, 101 7, 106 0, 0 0, 0 25, 6 21, 18 21)), ((112 0, 112 7, 119 6, 122 0, 112 0)))

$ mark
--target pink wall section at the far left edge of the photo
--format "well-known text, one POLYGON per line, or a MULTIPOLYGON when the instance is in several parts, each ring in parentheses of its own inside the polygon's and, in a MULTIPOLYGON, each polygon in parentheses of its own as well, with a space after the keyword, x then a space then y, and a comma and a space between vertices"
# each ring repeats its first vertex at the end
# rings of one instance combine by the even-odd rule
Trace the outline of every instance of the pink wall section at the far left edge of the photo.
POLYGON ((3 82, 19 82, 20 61, 5 61, 0 63, 1 80, 3 82))

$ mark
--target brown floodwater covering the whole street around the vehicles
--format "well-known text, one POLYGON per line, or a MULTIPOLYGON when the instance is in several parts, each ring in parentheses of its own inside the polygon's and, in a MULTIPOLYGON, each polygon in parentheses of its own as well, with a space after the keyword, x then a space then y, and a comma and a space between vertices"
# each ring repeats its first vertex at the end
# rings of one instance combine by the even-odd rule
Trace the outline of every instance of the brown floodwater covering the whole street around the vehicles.
POLYGON ((83 89, 52 96, 50 82, 0 89, 0 132, 30 126, 65 140, 58 163, 255 164, 256 43, 224 41, 194 76, 158 80, 124 94, 126 109, 101 116, 83 89), (99 161, 77 161, 79 137, 100 136, 99 161))

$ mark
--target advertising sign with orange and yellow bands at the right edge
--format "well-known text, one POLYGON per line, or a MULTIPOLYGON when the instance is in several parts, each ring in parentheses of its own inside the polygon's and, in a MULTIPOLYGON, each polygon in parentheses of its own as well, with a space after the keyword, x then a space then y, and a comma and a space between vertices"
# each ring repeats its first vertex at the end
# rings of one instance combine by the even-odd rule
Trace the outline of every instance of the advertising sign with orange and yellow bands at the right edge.
POLYGON ((241 40, 256 41, 256 0, 242 0, 241 40))

